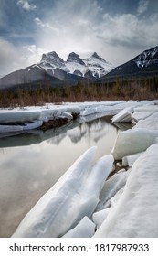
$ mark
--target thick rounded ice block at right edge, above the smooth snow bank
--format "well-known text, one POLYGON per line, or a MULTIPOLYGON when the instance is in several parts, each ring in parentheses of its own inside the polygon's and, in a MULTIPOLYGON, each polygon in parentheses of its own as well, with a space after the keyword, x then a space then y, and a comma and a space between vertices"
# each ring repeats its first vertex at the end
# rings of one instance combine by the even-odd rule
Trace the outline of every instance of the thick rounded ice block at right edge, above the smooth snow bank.
POLYGON ((141 153, 153 144, 157 136, 158 131, 149 131, 145 128, 121 132, 116 138, 111 153, 115 160, 121 160, 121 158, 126 155, 141 153))

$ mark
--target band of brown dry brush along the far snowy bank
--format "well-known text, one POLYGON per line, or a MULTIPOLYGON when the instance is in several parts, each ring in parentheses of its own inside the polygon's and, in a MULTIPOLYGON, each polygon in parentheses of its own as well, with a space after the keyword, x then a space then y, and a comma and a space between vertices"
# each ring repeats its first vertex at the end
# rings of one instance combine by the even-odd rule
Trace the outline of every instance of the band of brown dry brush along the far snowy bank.
POLYGON ((0 91, 0 108, 44 105, 47 102, 75 101, 129 101, 158 99, 157 86, 150 81, 116 81, 111 84, 79 85, 15 91, 0 91))

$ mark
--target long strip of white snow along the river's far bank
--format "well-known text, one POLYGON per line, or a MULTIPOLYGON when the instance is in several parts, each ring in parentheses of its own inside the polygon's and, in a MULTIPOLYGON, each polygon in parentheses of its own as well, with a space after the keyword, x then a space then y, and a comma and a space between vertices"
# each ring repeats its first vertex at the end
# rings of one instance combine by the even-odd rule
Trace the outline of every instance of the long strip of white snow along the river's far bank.
MULTIPOLYGON (((13 110, 0 110, 0 124, 15 124, 15 123, 31 123, 34 121, 48 121, 61 116, 65 116, 68 119, 72 118, 73 113, 80 113, 80 116, 88 116, 90 114, 100 113, 101 115, 113 115, 117 114, 123 109, 128 111, 138 109, 138 107, 149 105, 149 101, 101 101, 101 102, 76 102, 65 103, 61 105, 47 104, 42 107, 26 107, 25 109, 13 109, 13 110)), ((152 107, 157 108, 156 105, 152 107)), ((142 109, 141 109, 142 110, 142 109)), ((92 117, 94 118, 94 116, 92 117)), ((13 132, 12 126, 8 131, 13 132)), ((17 129, 17 128, 15 128, 17 129)), ((3 131, 0 130, 0 133, 3 131)), ((7 129, 5 130, 5 133, 7 129)))

